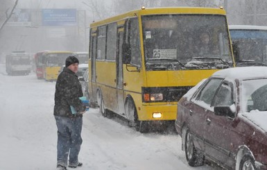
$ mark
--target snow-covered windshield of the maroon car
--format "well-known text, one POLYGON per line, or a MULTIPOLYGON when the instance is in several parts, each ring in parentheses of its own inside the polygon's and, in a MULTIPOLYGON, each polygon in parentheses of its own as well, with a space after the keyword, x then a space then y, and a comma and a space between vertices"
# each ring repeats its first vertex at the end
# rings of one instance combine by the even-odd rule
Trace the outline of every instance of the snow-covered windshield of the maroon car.
POLYGON ((243 80, 241 82, 242 110, 267 111, 267 78, 243 80))

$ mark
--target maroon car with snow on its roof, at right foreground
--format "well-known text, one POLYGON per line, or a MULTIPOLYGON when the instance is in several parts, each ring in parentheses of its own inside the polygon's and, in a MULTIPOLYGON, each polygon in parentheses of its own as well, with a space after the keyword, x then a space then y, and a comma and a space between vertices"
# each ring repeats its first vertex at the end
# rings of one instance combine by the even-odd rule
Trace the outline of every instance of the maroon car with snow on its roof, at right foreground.
POLYGON ((267 169, 267 67, 216 71, 178 102, 175 129, 190 166, 267 169))

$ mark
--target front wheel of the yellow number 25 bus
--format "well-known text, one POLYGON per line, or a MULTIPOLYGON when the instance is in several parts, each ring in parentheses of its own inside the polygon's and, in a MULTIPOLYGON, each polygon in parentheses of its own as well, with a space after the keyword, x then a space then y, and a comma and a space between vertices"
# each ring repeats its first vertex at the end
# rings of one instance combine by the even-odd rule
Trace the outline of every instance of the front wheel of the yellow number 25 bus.
POLYGON ((140 133, 147 133, 148 132, 148 123, 146 121, 139 121, 137 110, 135 108, 135 103, 132 101, 132 99, 129 99, 127 104, 128 107, 128 116, 133 115, 134 117, 134 124, 135 129, 139 131, 140 133))

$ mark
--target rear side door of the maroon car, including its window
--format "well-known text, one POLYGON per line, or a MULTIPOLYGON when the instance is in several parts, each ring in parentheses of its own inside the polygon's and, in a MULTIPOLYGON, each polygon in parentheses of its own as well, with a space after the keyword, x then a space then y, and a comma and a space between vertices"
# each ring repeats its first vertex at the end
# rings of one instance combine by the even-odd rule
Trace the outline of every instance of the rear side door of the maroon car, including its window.
POLYGON ((198 93, 191 99, 192 104, 189 105, 189 120, 187 121, 189 130, 194 137, 196 148, 205 151, 205 129, 207 122, 207 114, 212 110, 211 104, 214 94, 221 84, 222 79, 210 78, 198 93))

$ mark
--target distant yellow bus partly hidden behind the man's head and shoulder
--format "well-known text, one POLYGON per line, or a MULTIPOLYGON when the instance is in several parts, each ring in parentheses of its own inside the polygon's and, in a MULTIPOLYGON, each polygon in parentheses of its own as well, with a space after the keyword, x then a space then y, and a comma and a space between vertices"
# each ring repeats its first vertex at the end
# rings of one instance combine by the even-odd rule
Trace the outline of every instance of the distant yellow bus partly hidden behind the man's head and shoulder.
POLYGON ((58 79, 60 67, 65 64, 69 56, 74 56, 72 51, 46 51, 43 53, 43 77, 45 80, 53 81, 58 79))

